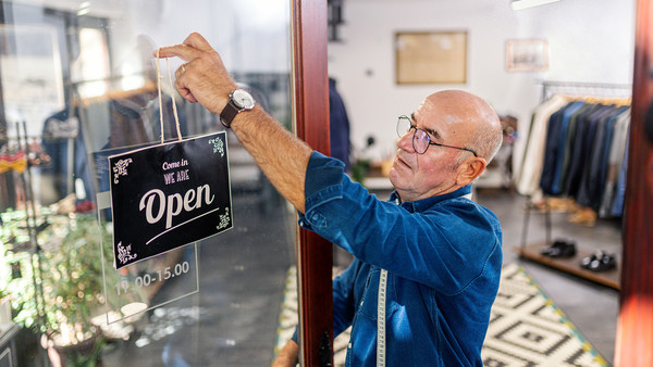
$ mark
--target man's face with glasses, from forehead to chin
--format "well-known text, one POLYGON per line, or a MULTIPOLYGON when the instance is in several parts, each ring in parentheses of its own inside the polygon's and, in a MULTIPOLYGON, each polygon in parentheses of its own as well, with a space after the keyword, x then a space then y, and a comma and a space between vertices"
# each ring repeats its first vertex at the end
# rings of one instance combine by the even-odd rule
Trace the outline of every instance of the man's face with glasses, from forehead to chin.
MULTIPOLYGON (((432 142, 467 147, 472 127, 461 119, 466 117, 461 112, 453 110, 446 101, 427 99, 412 115, 412 125, 426 130, 432 142)), ((429 145, 423 154, 418 154, 412 148, 414 131, 397 142, 397 154, 390 170, 390 180, 402 200, 416 201, 456 190, 458 167, 454 162, 459 154, 473 156, 472 153, 429 145)))

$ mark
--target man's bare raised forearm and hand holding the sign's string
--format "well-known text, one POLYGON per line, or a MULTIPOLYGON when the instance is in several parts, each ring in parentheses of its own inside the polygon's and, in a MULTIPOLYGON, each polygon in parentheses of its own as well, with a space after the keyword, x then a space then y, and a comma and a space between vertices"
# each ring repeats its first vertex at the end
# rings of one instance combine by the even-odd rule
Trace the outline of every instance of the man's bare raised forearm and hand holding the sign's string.
MULTIPOLYGON (((185 62, 175 72, 175 87, 182 97, 212 113, 222 112, 230 92, 237 87, 220 54, 202 36, 194 33, 184 43, 163 47, 155 51, 155 56, 157 53, 185 62)), ((231 128, 276 190, 304 213, 304 182, 312 150, 259 105, 237 114, 231 128)))

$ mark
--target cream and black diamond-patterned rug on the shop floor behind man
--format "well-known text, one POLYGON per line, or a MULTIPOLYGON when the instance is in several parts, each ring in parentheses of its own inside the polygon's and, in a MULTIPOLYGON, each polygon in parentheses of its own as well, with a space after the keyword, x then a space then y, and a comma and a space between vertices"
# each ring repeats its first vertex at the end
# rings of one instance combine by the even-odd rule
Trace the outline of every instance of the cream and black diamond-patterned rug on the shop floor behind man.
MULTIPOLYGON (((297 325, 296 277, 295 267, 288 269, 275 353, 297 325)), ((344 366, 348 340, 348 330, 334 340, 335 366, 344 366)), ((518 264, 502 270, 481 357, 496 367, 609 366, 518 264)))

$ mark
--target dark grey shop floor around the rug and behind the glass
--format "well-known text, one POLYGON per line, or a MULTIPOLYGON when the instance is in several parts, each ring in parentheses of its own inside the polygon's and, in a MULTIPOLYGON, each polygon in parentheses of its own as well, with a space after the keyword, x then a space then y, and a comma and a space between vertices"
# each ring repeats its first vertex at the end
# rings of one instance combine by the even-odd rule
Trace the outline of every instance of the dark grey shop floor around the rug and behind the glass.
MULTIPOLYGON (((380 194, 380 197, 382 197, 380 194)), ((112 342, 106 365, 266 366, 273 357, 286 270, 294 258, 295 213, 274 197, 234 193, 234 228, 199 246, 199 292, 153 309, 125 341, 112 342), (147 337, 149 343, 144 344, 147 337)), ((618 292, 519 258, 523 197, 480 190, 476 200, 501 219, 504 262, 520 263, 592 346, 614 360, 618 292)), ((616 222, 593 228, 570 225, 553 214, 553 237, 579 246, 619 253, 616 222)), ((532 214, 529 241, 545 238, 542 214, 532 214)), ((159 298, 174 289, 165 284, 159 298)))

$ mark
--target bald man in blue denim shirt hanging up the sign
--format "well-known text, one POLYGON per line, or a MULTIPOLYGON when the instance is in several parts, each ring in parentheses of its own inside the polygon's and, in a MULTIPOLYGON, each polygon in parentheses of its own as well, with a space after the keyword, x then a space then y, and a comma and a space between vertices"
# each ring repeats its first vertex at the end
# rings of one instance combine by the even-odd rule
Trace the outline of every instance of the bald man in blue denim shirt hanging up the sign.
MULTIPOLYGON (((390 172, 396 191, 382 202, 352 182, 341 162, 312 152, 251 107, 247 96, 235 115, 229 112, 236 84, 200 35, 160 49, 160 56, 186 62, 175 72, 177 90, 224 116, 299 211, 299 224, 356 257, 333 282, 334 331, 353 326, 348 365, 373 366, 378 358, 389 366, 482 365, 502 265, 498 220, 469 199, 502 141, 498 117, 484 101, 442 91, 402 116, 390 172)), ((288 342, 275 364, 296 364, 297 352, 296 341, 288 342)))

